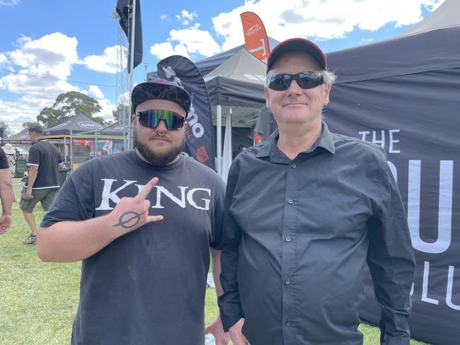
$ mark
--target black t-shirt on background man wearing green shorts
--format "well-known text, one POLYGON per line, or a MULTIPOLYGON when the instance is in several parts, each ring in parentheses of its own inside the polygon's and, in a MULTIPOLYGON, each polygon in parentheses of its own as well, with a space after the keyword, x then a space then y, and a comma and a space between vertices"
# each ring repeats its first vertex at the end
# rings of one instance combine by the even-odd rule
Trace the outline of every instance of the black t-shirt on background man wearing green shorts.
MULTIPOLYGON (((28 166, 38 167, 37 179, 32 189, 59 187, 58 168, 62 163, 61 154, 56 146, 45 139, 40 139, 29 150, 28 166)), ((25 187, 27 187, 25 182, 25 187)))

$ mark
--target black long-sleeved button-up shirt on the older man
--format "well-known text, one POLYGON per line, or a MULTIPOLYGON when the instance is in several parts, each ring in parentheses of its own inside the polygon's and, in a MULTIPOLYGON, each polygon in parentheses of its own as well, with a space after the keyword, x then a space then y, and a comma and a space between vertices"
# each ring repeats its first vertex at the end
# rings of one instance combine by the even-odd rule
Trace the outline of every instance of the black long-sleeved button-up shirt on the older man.
POLYGON ((331 134, 290 160, 268 141, 229 172, 219 298, 251 345, 362 344, 367 262, 386 345, 409 344, 415 260, 401 196, 378 146, 331 134))

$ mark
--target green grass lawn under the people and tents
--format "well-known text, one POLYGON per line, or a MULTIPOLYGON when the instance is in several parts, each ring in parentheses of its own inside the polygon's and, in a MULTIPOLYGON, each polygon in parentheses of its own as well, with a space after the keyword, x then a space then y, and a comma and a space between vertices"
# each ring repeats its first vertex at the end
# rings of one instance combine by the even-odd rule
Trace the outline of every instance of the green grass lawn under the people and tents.
MULTIPOLYGON (((19 196, 21 185, 15 179, 19 196)), ((45 214, 35 209, 35 220, 45 214)), ((79 302, 81 264, 43 263, 35 245, 21 240, 30 231, 18 202, 13 204, 13 227, 0 236, 0 344, 63 345, 70 343, 71 324, 79 302)), ((215 291, 206 294, 205 320, 217 316, 215 291)), ((361 324, 365 345, 379 344, 379 329, 361 324)), ((411 345, 422 345, 411 341, 411 345)), ((269 345, 269 344, 268 344, 269 345)))

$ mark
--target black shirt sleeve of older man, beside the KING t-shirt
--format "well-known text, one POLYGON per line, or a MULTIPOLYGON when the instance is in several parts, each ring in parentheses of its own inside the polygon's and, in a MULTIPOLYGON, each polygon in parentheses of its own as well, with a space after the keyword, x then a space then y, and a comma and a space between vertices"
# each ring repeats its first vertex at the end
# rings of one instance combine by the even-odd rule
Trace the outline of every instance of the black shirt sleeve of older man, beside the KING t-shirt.
POLYGON ((225 331, 244 317, 238 292, 237 263, 238 247, 241 242, 241 228, 231 214, 231 202, 238 182, 239 164, 234 161, 229 170, 224 203, 224 227, 222 230, 222 254, 220 281, 224 294, 218 303, 225 331))

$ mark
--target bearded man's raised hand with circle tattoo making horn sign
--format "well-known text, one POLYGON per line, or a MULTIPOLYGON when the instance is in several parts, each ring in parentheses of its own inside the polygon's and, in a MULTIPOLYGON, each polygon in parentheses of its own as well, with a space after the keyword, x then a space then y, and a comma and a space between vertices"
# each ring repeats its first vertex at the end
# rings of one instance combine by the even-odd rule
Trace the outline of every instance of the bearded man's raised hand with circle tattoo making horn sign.
POLYGON ((146 200, 151 189, 158 182, 158 177, 152 178, 139 191, 134 198, 125 197, 120 199, 115 209, 110 213, 110 224, 115 230, 121 230, 122 233, 129 233, 132 230, 140 228, 146 223, 152 221, 161 221, 163 216, 149 216, 150 201, 146 200))

